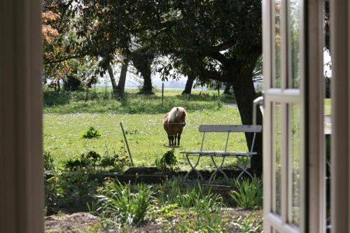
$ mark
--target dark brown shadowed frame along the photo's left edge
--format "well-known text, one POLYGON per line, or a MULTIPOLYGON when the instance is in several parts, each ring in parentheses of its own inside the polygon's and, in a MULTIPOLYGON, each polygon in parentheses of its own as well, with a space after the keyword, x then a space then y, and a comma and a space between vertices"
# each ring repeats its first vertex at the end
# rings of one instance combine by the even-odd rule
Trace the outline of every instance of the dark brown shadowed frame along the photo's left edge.
POLYGON ((0 232, 43 232, 41 0, 0 3, 0 232))

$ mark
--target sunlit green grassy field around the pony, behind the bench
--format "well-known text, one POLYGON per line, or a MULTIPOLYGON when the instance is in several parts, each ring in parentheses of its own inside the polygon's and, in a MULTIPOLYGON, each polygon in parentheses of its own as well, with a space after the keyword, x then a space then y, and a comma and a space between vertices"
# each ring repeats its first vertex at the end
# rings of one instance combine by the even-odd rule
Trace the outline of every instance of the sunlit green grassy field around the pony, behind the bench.
MULTIPOLYGON (((173 106, 183 106, 188 111, 186 127, 181 137, 181 146, 175 148, 181 169, 188 169, 179 152, 198 150, 202 134, 197 128, 202 124, 241 124, 239 111, 228 103, 232 97, 218 97, 215 91, 193 91, 187 97, 181 90, 165 90, 162 104, 161 92, 154 95, 137 94, 127 90, 123 99, 113 99, 111 90, 92 90, 85 101, 84 92, 53 92, 45 90, 44 150, 52 153, 55 163, 66 157, 95 150, 100 155, 125 154, 123 134, 119 122, 123 122, 135 165, 154 166, 155 159, 170 148, 162 120, 173 106), (80 133, 93 126, 102 132, 97 139, 81 139, 80 133)), ((204 149, 223 150, 225 135, 211 134, 206 137, 204 149)), ((231 137, 229 149, 246 150, 244 134, 231 137)), ((234 162, 234 161, 231 161, 234 162)), ((211 168, 204 160, 202 168, 211 168)), ((228 161, 230 164, 230 160, 228 161)))

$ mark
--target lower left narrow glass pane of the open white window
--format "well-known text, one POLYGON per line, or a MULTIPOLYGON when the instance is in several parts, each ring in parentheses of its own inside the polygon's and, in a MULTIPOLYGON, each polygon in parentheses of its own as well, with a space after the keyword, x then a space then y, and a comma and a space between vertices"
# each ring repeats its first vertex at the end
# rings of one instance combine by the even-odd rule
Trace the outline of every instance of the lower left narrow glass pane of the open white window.
POLYGON ((274 104, 274 213, 281 214, 281 104, 274 104))

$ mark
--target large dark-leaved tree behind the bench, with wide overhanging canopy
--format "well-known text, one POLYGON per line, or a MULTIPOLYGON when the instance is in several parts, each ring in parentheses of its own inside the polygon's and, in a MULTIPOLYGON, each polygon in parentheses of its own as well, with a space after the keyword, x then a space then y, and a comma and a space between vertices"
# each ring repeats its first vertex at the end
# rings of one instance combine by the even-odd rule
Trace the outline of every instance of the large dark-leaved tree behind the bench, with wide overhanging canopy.
MULTIPOLYGON (((117 53, 134 59, 144 76, 149 76, 155 56, 181 62, 189 71, 185 74, 194 74, 200 82, 232 85, 241 122, 251 124, 257 97, 253 73, 262 52, 261 1, 76 0, 73 6, 85 51, 104 52, 112 63, 117 53)), ((246 139, 251 146, 252 137, 246 139)), ((260 135, 255 145, 258 156, 252 169, 262 174, 260 135)))

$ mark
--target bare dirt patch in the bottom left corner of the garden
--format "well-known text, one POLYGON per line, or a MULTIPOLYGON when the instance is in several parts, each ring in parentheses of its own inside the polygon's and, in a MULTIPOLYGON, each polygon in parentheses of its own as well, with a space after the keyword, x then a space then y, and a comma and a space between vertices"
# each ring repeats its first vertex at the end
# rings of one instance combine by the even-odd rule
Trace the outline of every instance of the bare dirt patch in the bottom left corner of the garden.
POLYGON ((59 214, 45 218, 45 232, 92 232, 99 218, 90 213, 59 214))

